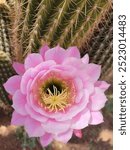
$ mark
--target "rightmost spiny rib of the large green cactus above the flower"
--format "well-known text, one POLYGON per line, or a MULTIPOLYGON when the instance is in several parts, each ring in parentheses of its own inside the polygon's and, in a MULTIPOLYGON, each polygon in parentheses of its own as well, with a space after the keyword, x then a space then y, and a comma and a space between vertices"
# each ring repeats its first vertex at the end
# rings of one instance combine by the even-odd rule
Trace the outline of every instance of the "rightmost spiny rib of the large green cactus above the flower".
POLYGON ((98 27, 98 24, 102 21, 104 16, 107 14, 107 11, 111 8, 110 2, 103 3, 102 5, 101 3, 98 3, 99 0, 95 1, 93 8, 88 13, 87 18, 84 20, 82 25, 77 28, 75 36, 73 36, 69 45, 76 44, 79 48, 81 48, 84 43, 91 38, 93 32, 98 27))

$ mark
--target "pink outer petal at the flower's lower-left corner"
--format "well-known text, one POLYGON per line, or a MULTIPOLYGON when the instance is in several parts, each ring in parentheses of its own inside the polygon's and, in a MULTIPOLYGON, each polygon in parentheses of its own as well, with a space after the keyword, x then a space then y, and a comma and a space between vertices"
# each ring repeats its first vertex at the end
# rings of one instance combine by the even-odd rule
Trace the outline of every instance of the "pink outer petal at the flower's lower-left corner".
POLYGON ((16 126, 23 126, 26 120, 26 116, 22 116, 16 111, 12 114, 11 124, 16 126))

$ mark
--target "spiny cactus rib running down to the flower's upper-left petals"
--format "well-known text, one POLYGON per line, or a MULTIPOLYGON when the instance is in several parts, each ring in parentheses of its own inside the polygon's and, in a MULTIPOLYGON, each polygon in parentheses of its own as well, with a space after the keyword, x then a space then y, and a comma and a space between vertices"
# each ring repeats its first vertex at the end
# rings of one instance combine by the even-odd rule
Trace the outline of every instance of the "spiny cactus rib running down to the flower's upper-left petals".
POLYGON ((39 4, 38 13, 36 14, 36 21, 34 23, 34 27, 30 33, 29 38, 29 45, 27 46, 24 56, 28 53, 33 51, 33 49, 36 50, 37 45, 40 46, 41 41, 39 40, 41 37, 41 33, 43 32, 45 28, 45 22, 47 20, 49 11, 51 11, 51 7, 54 3, 54 0, 42 0, 39 4))

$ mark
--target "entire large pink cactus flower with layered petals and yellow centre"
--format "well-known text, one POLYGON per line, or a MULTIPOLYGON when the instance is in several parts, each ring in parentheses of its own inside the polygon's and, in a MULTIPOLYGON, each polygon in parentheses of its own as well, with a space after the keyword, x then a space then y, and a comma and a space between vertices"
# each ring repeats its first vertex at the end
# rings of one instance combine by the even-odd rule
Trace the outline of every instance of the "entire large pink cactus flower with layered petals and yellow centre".
POLYGON ((98 81, 101 66, 89 63, 87 54, 80 58, 77 47, 44 46, 13 67, 18 75, 4 84, 13 100, 11 123, 42 146, 53 139, 66 143, 73 133, 81 138, 81 129, 103 122, 109 84, 98 81))

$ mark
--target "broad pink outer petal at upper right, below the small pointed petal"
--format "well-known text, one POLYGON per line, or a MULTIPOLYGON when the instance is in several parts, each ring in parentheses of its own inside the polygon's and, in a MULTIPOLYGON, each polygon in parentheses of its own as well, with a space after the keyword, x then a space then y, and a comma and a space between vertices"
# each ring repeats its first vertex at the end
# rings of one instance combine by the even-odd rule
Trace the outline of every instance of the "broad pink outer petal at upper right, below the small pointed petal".
POLYGON ((96 64, 88 64, 86 66, 86 75, 89 76, 89 81, 95 82, 101 74, 101 66, 96 64))

